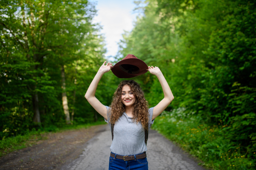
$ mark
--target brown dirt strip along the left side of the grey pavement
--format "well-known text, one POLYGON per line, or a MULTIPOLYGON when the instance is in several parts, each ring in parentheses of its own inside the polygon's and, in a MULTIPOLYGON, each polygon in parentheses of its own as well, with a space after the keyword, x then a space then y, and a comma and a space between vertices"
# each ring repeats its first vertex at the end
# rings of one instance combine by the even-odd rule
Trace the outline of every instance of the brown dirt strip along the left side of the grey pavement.
POLYGON ((47 140, 0 158, 0 170, 59 170, 78 158, 87 141, 105 130, 106 125, 87 129, 47 133, 47 140))

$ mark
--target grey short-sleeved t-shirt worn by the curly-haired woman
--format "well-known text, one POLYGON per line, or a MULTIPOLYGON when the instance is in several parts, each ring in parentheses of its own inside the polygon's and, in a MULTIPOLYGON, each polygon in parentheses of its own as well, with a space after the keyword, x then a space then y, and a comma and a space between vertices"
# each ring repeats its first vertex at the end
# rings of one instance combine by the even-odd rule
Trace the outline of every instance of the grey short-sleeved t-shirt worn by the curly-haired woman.
MULTIPOLYGON (((106 106, 108 110, 108 119, 111 114, 111 108, 106 106)), ((148 109, 149 120, 148 120, 148 130, 154 123, 152 121, 153 108, 148 109)), ((145 131, 142 124, 139 122, 132 122, 132 118, 127 116, 124 112, 122 116, 119 117, 118 121, 114 126, 114 138, 110 147, 111 152, 118 155, 135 155, 138 153, 143 153, 147 151, 145 144, 145 131)), ((111 124, 107 119, 105 121, 111 128, 111 124)))

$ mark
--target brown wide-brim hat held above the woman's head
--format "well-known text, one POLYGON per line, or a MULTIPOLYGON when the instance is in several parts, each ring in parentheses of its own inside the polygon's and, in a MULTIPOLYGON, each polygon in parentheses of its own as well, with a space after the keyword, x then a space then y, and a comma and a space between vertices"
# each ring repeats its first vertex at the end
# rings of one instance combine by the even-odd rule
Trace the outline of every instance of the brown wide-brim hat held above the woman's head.
POLYGON ((128 54, 124 59, 117 62, 111 71, 118 78, 132 78, 147 72, 148 65, 132 54, 128 54))

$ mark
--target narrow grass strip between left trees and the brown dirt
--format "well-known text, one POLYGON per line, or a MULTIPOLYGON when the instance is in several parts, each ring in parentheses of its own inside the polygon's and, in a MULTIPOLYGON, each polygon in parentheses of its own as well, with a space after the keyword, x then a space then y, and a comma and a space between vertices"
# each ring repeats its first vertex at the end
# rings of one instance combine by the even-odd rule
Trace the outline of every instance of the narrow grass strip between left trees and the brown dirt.
POLYGON ((45 137, 44 134, 51 132, 62 132, 64 130, 76 130, 81 128, 89 128, 94 125, 103 125, 106 124, 105 121, 98 121, 93 123, 88 123, 84 125, 66 125, 64 127, 58 128, 55 126, 42 128, 39 130, 31 130, 27 132, 25 135, 17 135, 15 137, 9 137, 4 140, 0 141, 0 157, 11 153, 15 150, 20 150, 25 147, 32 146, 33 144, 36 144, 39 140, 45 140, 47 137, 45 137))

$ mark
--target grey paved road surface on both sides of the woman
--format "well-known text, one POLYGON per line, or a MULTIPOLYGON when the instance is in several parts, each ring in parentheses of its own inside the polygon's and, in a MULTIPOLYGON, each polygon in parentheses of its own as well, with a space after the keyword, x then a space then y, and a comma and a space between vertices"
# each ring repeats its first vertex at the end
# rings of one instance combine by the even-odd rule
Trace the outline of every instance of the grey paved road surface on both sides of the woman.
MULTIPOLYGON (((101 133, 87 142, 78 159, 60 169, 108 170, 111 142, 111 131, 106 125, 101 133)), ((147 147, 149 170, 205 170, 195 160, 189 158, 189 155, 155 130, 149 131, 147 147)))

